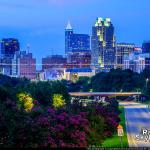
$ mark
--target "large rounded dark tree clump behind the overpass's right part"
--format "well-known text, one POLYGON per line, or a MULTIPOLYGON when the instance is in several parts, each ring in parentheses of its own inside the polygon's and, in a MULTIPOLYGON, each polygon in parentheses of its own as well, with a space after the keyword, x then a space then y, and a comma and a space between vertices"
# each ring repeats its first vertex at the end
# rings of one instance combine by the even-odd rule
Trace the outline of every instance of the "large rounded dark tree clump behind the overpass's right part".
POLYGON ((91 79, 95 92, 136 91, 142 89, 143 79, 131 70, 112 69, 108 73, 98 73, 91 79))

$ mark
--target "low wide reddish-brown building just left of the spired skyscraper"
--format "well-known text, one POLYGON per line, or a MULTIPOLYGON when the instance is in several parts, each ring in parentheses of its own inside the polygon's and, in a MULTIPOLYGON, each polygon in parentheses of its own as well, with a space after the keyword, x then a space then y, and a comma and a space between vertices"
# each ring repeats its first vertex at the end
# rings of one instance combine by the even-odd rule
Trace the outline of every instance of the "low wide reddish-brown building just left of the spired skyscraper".
POLYGON ((42 58, 42 70, 50 68, 63 68, 66 65, 67 59, 62 55, 51 55, 42 58))

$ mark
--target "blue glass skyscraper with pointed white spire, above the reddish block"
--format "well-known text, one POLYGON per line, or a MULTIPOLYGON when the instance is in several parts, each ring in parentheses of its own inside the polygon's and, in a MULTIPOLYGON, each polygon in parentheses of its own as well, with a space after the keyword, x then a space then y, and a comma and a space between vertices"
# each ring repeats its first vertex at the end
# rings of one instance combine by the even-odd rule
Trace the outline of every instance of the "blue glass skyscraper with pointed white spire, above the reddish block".
POLYGON ((65 30, 65 53, 73 50, 90 50, 90 36, 87 34, 75 34, 70 23, 65 30))

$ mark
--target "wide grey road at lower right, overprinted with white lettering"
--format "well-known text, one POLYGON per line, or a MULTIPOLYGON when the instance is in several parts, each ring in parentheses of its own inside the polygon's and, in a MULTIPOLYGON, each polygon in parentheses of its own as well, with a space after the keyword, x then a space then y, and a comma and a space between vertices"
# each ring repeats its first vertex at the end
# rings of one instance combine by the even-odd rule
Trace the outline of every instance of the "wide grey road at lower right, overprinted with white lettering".
POLYGON ((125 107, 126 130, 129 147, 150 148, 150 108, 135 102, 121 102, 125 107), (149 140, 142 138, 142 129, 149 130, 149 140), (136 136, 138 136, 136 138, 136 136), (139 140, 139 137, 141 138, 139 140))

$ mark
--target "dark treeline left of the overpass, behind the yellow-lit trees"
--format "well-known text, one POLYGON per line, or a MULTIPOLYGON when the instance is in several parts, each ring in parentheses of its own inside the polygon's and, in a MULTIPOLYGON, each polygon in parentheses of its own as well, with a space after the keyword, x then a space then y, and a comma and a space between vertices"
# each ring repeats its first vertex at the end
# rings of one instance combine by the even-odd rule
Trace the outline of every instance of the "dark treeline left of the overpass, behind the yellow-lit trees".
POLYGON ((12 100, 16 100, 15 95, 18 93, 28 93, 44 106, 52 103, 55 93, 62 94, 67 104, 70 102, 68 89, 62 81, 31 82, 26 78, 10 78, 0 75, 0 93, 3 93, 1 90, 7 92, 7 96, 12 100))

